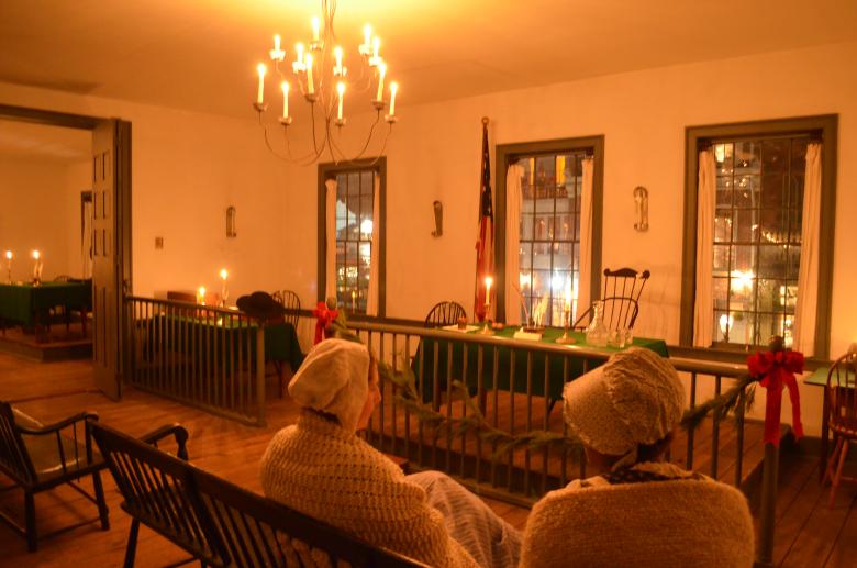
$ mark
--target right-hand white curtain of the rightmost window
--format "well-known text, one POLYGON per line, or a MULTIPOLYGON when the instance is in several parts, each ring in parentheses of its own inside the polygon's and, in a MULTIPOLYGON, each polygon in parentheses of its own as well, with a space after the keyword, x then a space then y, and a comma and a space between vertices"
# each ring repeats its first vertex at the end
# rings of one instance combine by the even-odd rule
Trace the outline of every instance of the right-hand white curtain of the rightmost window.
POLYGON ((801 224, 801 266, 798 276, 798 304, 794 309, 793 347, 810 357, 815 352, 815 308, 819 299, 819 231, 821 224, 822 145, 806 146, 801 224))

